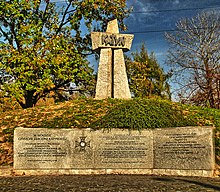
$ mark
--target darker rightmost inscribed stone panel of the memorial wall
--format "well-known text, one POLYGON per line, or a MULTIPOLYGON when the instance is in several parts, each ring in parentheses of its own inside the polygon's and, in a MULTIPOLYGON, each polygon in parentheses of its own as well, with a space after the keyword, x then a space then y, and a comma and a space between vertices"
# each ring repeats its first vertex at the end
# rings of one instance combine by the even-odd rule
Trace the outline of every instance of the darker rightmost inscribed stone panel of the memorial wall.
POLYGON ((154 168, 214 169, 213 129, 184 127, 154 130, 154 168))

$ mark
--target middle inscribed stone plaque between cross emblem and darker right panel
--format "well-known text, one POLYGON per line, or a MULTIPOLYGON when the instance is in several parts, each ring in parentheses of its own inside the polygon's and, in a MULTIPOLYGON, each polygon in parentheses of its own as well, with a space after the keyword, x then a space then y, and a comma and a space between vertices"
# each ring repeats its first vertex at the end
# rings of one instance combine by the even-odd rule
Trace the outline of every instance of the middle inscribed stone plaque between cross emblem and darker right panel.
POLYGON ((97 132, 95 165, 97 168, 153 168, 152 138, 150 130, 97 132))

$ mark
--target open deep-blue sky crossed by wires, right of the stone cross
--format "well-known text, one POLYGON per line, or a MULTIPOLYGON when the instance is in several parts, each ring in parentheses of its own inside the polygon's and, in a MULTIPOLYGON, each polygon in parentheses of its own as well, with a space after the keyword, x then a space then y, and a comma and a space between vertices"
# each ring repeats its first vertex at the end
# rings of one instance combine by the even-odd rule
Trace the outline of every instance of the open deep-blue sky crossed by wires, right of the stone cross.
POLYGON ((136 51, 145 43, 149 52, 155 52, 165 70, 168 43, 164 31, 175 29, 176 22, 181 18, 190 18, 213 8, 220 10, 220 0, 127 0, 127 5, 133 7, 133 13, 125 20, 126 33, 134 34, 131 51, 136 51))

